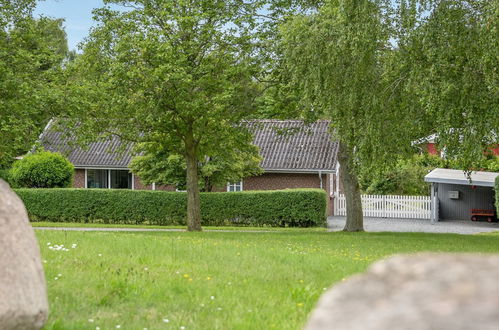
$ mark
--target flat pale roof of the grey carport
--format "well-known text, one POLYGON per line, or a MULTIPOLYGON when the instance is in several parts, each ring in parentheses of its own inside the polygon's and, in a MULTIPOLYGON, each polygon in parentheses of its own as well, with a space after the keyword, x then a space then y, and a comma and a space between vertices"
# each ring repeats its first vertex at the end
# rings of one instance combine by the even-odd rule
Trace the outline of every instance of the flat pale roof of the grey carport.
POLYGON ((468 178, 462 170, 436 168, 428 173, 424 179, 426 182, 493 187, 497 176, 499 176, 497 172, 474 171, 468 178))

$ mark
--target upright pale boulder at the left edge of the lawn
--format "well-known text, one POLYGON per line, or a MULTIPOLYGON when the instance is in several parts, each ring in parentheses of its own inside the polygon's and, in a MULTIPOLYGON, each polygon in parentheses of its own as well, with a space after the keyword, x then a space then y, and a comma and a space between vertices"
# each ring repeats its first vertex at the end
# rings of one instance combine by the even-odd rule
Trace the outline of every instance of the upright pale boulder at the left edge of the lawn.
POLYGON ((0 179, 0 329, 40 329, 47 315, 35 233, 24 204, 0 179))

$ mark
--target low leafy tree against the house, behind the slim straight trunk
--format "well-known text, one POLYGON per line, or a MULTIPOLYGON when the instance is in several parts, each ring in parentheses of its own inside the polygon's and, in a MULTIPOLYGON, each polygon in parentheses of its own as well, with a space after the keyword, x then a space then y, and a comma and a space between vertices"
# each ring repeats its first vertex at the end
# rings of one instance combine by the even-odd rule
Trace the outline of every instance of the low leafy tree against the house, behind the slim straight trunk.
MULTIPOLYGON (((227 182, 237 182, 245 177, 261 174, 258 148, 246 143, 241 147, 245 150, 220 150, 217 154, 198 162, 199 185, 202 191, 211 192, 214 187, 225 186, 227 182)), ((187 166, 184 157, 171 154, 157 144, 139 145, 136 152, 140 156, 133 158, 130 168, 144 183, 175 185, 180 190, 185 189, 187 166)))

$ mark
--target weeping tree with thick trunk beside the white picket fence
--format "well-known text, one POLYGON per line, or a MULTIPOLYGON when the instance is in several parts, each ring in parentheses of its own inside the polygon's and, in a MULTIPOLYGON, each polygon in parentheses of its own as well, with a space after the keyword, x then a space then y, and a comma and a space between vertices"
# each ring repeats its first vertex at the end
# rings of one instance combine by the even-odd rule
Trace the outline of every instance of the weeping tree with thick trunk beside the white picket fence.
MULTIPOLYGON (((305 116, 331 120, 339 140, 347 200, 344 230, 362 231, 359 168, 386 166, 417 118, 398 111, 397 54, 382 1, 329 1, 282 28, 284 72, 300 91, 305 116)), ((386 8, 386 7, 385 7, 386 8)))

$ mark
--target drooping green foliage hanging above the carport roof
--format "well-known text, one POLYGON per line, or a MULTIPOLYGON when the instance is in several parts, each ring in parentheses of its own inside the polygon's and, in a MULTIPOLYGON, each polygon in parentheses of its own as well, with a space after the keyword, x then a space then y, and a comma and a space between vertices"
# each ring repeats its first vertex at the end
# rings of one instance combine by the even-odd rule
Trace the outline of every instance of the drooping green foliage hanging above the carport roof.
POLYGON ((462 169, 481 168, 499 143, 499 2, 423 2, 401 38, 406 84, 431 118, 440 148, 462 169))

